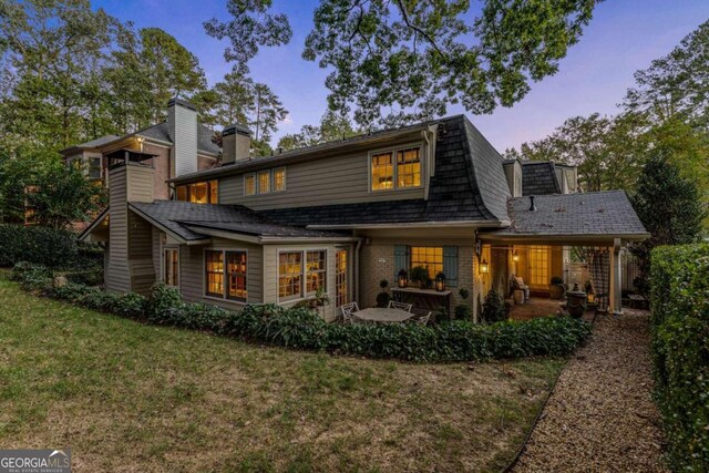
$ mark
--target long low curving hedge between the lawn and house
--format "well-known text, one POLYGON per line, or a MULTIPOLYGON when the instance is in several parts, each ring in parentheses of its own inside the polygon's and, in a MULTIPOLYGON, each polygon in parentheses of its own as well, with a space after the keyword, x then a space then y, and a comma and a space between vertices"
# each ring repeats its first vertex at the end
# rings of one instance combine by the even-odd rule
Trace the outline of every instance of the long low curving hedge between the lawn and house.
POLYGON ((13 278, 45 296, 148 323, 209 331, 275 346, 410 361, 474 361, 493 358, 564 356, 590 335, 590 326, 572 318, 543 318, 475 325, 339 325, 308 308, 249 305, 234 312, 185 304, 175 288, 154 286, 151 296, 115 295, 83 285, 53 287, 51 271, 18 265, 13 278))

